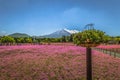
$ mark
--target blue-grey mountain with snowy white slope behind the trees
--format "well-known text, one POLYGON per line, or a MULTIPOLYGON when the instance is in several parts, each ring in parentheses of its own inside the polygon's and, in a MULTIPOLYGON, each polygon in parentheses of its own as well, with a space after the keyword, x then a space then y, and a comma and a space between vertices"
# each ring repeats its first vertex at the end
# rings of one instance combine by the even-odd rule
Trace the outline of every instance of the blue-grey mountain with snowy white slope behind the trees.
POLYGON ((46 38, 59 38, 62 36, 70 36, 71 34, 78 33, 79 31, 77 30, 68 30, 68 29, 62 29, 58 30, 56 32, 53 32, 48 35, 40 36, 40 37, 46 37, 46 38))

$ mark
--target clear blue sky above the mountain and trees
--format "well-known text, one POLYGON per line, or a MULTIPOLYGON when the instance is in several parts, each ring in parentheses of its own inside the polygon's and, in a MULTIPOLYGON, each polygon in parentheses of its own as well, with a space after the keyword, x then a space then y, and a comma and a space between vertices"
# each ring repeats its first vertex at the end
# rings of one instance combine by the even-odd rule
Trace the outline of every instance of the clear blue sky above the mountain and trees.
POLYGON ((0 34, 44 35, 94 23, 120 35, 120 0, 0 0, 0 34))

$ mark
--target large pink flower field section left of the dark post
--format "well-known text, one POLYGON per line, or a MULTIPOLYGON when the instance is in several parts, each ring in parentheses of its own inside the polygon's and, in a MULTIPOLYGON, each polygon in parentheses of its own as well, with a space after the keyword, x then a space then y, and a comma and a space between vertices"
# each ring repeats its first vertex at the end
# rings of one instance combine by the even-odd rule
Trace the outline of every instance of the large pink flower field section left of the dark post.
POLYGON ((0 80, 85 79, 85 48, 0 46, 0 80))

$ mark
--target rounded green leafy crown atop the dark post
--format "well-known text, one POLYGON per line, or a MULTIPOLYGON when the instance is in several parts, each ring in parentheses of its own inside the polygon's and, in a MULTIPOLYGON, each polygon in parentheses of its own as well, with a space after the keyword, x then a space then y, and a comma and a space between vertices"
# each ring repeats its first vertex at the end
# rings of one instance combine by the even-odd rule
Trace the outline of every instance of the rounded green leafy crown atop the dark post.
POLYGON ((105 32, 100 30, 85 30, 74 35, 73 41, 75 44, 99 44, 104 42, 105 32))

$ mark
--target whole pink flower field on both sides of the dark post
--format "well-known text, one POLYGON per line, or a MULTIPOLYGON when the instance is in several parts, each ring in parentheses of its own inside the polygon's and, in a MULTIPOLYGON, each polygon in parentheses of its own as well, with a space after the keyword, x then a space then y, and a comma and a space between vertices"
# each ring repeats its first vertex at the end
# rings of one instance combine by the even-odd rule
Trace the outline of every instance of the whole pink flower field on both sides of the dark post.
MULTIPOLYGON (((86 80, 85 50, 74 45, 0 46, 0 80, 86 80)), ((92 52, 93 80, 119 80, 120 59, 92 52)))

